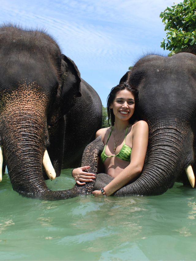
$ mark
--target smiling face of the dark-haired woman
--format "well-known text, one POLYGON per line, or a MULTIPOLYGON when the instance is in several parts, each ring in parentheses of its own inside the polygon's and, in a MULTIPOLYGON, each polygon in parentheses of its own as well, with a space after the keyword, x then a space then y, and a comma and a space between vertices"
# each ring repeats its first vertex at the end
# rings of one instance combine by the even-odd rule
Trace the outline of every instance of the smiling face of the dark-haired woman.
POLYGON ((110 109, 113 109, 115 118, 117 117, 123 121, 128 121, 134 114, 134 95, 127 89, 118 91, 116 93, 115 99, 110 105, 110 109))

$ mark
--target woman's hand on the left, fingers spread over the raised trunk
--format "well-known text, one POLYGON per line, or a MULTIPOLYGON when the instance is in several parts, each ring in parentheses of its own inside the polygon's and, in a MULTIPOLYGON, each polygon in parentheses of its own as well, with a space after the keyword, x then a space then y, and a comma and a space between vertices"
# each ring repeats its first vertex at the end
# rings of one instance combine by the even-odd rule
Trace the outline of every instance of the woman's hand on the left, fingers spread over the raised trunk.
POLYGON ((83 166, 72 170, 72 176, 78 185, 85 185, 86 182, 90 182, 95 179, 95 174, 84 171, 89 168, 90 166, 83 166))

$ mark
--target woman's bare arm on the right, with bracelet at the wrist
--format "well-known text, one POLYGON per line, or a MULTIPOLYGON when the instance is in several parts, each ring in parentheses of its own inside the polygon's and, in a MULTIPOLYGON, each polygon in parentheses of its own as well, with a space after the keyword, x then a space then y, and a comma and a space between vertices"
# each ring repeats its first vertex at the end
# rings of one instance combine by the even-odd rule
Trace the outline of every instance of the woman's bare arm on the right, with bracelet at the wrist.
MULTIPOLYGON (((107 196, 110 196, 116 190, 122 188, 141 173, 148 146, 148 133, 148 124, 145 121, 138 121, 134 124, 130 164, 104 187, 107 196)), ((94 196, 103 195, 100 190, 95 190, 92 194, 94 196)))

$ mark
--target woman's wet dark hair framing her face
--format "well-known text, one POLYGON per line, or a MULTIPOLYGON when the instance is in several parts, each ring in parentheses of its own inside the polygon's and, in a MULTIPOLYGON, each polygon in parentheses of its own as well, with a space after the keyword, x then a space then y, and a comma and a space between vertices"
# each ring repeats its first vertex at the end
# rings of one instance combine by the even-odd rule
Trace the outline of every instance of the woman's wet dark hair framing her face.
POLYGON ((111 125, 114 125, 114 121, 115 121, 115 116, 113 113, 113 109, 110 109, 110 105, 113 103, 115 97, 116 97, 116 93, 118 91, 122 91, 122 90, 128 90, 130 91, 133 95, 134 95, 134 101, 135 101, 135 110, 134 110, 134 114, 130 117, 129 119, 129 123, 130 124, 134 124, 134 122, 137 121, 137 102, 138 102, 138 90, 135 89, 134 87, 130 86, 128 83, 123 82, 121 84, 118 84, 117 86, 113 87, 109 93, 109 95, 107 96, 107 116, 108 116, 108 124, 110 125, 109 121, 111 119, 111 125))

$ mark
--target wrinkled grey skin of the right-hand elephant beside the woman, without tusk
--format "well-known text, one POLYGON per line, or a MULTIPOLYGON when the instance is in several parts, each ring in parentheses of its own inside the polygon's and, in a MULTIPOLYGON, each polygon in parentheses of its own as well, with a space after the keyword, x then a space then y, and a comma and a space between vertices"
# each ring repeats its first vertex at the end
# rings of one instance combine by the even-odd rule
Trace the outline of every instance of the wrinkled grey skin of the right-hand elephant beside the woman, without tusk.
MULTIPOLYGON (((189 184, 185 167, 192 164, 196 173, 196 55, 145 56, 120 82, 139 91, 138 110, 149 125, 149 144, 140 177, 114 195, 160 195, 175 181, 189 184)), ((111 180, 98 174, 92 190, 111 180)))

